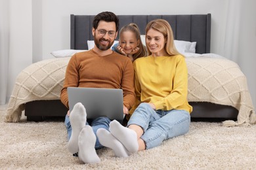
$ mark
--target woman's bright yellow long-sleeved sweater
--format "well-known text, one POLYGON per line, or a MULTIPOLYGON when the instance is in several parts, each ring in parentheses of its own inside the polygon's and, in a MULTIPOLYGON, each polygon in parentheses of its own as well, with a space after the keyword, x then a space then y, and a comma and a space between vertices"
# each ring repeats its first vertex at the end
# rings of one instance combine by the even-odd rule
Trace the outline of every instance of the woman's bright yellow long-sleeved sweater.
MULTIPOLYGON (((183 56, 148 56, 136 59, 135 93, 139 103, 154 103, 156 110, 187 110, 188 70, 183 56)), ((132 110, 134 110, 133 108, 132 110)))

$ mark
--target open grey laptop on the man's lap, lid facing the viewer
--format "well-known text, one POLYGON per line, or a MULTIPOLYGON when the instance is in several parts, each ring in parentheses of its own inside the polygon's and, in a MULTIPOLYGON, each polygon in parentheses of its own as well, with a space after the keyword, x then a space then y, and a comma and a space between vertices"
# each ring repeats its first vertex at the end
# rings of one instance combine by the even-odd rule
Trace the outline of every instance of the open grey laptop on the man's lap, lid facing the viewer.
POLYGON ((123 90, 121 89, 68 87, 70 112, 78 102, 85 107, 89 120, 106 116, 110 120, 123 121, 123 90))

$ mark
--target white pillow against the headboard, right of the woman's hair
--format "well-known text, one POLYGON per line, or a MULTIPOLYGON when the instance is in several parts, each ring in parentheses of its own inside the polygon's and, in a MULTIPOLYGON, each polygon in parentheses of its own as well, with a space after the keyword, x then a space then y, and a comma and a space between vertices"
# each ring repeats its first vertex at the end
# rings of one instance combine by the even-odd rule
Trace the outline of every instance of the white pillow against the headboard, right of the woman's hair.
POLYGON ((177 50, 181 53, 184 53, 184 52, 195 53, 196 52, 196 42, 175 40, 174 44, 175 44, 177 50))

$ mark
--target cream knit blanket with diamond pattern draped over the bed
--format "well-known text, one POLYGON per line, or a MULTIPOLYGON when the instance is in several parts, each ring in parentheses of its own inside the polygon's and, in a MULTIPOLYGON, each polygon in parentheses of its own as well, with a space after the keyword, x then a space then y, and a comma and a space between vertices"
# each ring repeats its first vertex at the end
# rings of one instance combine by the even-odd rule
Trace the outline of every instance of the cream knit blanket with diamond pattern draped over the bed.
MULTIPOLYGON (((70 58, 46 59, 24 69, 16 78, 5 121, 18 122, 27 102, 60 99, 69 60, 70 58)), ((188 101, 206 101, 238 109, 238 120, 224 121, 224 126, 256 124, 247 80, 236 63, 207 55, 188 57, 186 63, 188 101)))

